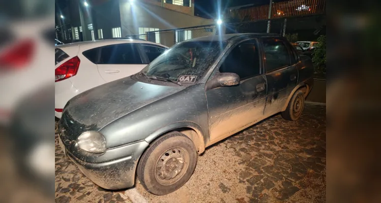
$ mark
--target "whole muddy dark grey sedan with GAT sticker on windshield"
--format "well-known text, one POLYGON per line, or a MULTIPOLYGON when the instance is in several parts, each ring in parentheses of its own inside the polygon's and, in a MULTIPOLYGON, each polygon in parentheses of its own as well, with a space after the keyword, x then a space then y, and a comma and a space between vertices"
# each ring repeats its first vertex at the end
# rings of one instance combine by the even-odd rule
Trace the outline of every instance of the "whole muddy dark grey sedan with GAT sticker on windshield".
POLYGON ((300 117, 311 59, 284 38, 232 34, 174 45, 140 73, 68 101, 60 143, 106 189, 141 184, 157 195, 184 185, 197 154, 281 112, 300 117))

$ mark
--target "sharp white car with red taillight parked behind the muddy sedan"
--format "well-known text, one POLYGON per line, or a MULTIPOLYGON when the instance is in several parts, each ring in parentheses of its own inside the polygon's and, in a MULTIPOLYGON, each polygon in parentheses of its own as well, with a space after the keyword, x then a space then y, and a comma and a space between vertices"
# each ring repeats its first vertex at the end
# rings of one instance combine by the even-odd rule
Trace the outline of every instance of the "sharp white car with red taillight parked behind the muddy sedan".
MULTIPOLYGON (((141 71, 168 47, 143 40, 97 40, 55 47, 55 116, 73 96, 141 71)), ((111 90, 110 90, 111 91, 111 90)))

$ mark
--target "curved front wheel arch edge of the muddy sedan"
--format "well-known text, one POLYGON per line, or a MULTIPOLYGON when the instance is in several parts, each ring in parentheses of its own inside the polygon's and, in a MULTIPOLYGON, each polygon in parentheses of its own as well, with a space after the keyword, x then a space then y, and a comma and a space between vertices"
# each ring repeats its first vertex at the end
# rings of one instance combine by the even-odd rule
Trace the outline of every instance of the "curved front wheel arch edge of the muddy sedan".
MULTIPOLYGON (((163 126, 157 130, 155 130, 153 133, 151 133, 148 137, 146 137, 144 140, 145 142, 151 143, 156 138, 160 137, 162 134, 165 134, 166 132, 178 129, 178 128, 191 128, 197 133, 197 143, 194 143, 197 148, 197 153, 201 154, 205 151, 205 139, 206 138, 201 126, 199 126, 197 123, 192 121, 179 121, 175 122, 166 126, 163 126)), ((190 138, 192 139, 192 138, 190 138)), ((194 140, 192 140, 195 142, 194 140)))

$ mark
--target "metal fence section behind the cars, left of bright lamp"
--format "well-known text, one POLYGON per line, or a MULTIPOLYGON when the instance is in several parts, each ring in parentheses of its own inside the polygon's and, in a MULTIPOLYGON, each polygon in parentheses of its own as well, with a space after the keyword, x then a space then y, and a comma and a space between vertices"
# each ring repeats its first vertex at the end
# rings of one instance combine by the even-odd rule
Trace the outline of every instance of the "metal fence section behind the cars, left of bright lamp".
POLYGON ((177 29, 165 29, 157 31, 148 31, 144 35, 126 36, 132 38, 139 38, 146 41, 155 42, 168 47, 176 43, 190 40, 193 38, 217 35, 218 30, 215 25, 201 25, 194 27, 185 27, 177 29))

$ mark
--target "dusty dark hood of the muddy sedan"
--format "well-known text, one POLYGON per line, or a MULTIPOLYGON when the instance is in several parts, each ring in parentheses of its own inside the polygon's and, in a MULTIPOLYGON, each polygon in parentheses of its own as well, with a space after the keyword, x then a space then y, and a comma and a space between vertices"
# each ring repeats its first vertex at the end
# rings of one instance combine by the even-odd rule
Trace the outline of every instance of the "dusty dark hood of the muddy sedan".
POLYGON ((70 134, 77 136, 85 130, 99 130, 115 119, 184 88, 139 82, 131 77, 122 78, 70 99, 61 125, 71 128, 70 134))

